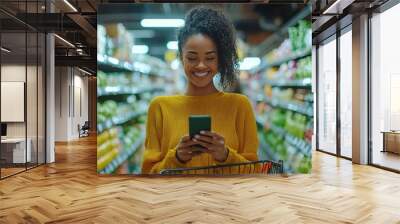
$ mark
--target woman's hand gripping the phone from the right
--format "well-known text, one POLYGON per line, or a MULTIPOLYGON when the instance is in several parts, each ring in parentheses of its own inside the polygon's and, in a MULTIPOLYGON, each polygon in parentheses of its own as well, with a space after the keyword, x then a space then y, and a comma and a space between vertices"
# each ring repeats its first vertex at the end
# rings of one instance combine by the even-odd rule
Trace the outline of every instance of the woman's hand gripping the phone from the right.
POLYGON ((225 146, 225 138, 215 132, 201 131, 193 141, 205 147, 205 152, 210 153, 218 162, 224 162, 228 158, 229 151, 225 146))

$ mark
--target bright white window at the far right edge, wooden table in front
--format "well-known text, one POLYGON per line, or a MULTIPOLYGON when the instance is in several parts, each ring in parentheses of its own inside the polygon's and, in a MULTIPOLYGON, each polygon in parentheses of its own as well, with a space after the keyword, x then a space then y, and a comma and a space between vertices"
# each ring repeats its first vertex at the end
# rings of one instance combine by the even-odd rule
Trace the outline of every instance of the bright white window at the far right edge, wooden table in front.
POLYGON ((400 133, 391 133, 400 129, 398 21, 400 4, 371 19, 372 163, 395 170, 400 170, 400 133))

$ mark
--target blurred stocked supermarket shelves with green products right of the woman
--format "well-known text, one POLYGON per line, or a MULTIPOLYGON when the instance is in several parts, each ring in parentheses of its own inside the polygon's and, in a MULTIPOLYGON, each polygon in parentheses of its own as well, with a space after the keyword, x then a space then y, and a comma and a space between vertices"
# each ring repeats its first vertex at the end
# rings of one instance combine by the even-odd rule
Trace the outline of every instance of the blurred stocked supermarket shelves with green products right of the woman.
POLYGON ((265 55, 245 84, 255 105, 259 155, 283 160, 288 173, 307 173, 311 169, 314 114, 311 25, 299 21, 288 32, 289 39, 265 55))

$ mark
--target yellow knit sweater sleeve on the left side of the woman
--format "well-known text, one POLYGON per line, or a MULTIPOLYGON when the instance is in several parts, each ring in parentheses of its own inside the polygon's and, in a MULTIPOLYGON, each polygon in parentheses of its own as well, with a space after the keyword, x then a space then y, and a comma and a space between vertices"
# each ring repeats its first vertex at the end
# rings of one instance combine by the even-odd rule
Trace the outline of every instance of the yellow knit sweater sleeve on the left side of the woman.
POLYGON ((145 150, 142 174, 158 174, 166 168, 184 167, 176 157, 176 149, 164 149, 162 145, 162 112, 157 98, 149 106, 146 122, 145 150))

